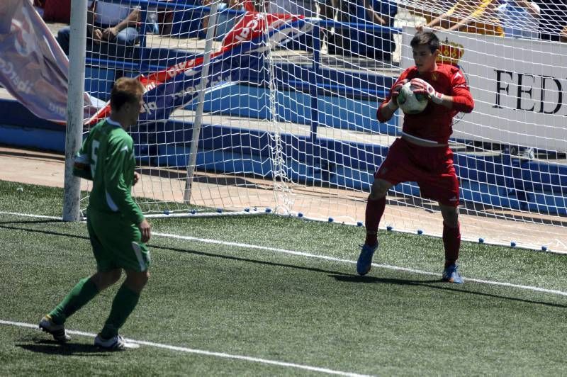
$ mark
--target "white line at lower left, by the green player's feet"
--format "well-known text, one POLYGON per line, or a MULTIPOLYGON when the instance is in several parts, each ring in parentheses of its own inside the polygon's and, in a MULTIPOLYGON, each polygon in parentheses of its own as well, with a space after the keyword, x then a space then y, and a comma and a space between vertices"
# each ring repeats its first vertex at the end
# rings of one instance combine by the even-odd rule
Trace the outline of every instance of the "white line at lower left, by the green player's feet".
MULTIPOLYGON (((24 323, 24 322, 13 322, 13 321, 0 320, 0 325, 28 327, 28 328, 39 330, 38 325, 33 325, 31 323, 24 323)), ((67 330, 67 333, 68 334, 74 334, 74 335, 80 335, 82 337, 91 337, 91 338, 96 337, 96 334, 92 334, 91 332, 67 330)), ((308 365, 302 365, 302 364, 286 363, 286 362, 283 362, 283 361, 260 359, 258 357, 251 357, 251 356, 225 354, 224 352, 205 351, 203 349, 193 349, 193 348, 188 348, 188 347, 172 346, 172 345, 169 345, 169 344, 146 342, 145 340, 135 340, 135 339, 126 339, 126 340, 128 340, 128 342, 140 344, 140 345, 143 345, 143 346, 156 347, 156 348, 161 348, 161 349, 169 349, 170 351, 186 352, 187 354, 214 356, 214 357, 220 357, 220 358, 223 358, 223 359, 244 360, 244 361, 250 361, 250 362, 259 363, 259 364, 269 364, 269 365, 276 365, 276 366, 285 366, 285 367, 288 367, 288 368, 303 369, 304 371, 314 371, 314 372, 327 373, 327 374, 336 374, 336 375, 339 375, 339 376, 357 376, 357 377, 358 376, 366 376, 364 374, 335 371, 333 369, 327 369, 327 368, 319 368, 318 366, 308 366, 308 365)))

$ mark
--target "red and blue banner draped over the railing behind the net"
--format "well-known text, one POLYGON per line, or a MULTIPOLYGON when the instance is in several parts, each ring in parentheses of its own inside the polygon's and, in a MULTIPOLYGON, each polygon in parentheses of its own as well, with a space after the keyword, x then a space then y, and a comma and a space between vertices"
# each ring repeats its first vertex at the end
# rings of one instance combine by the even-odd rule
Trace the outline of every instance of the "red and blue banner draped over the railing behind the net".
MULTIPOLYGON (((246 69, 259 69, 270 42, 282 43, 298 38, 310 30, 310 26, 303 16, 247 11, 225 35, 220 49, 210 54, 208 75, 203 80, 203 56, 139 77, 145 92, 144 108, 138 121, 151 123, 167 120, 176 108, 193 101, 201 86, 209 89, 223 82, 240 81, 246 69)), ((110 103, 107 103, 87 123, 93 125, 99 122, 110 111, 110 103)))

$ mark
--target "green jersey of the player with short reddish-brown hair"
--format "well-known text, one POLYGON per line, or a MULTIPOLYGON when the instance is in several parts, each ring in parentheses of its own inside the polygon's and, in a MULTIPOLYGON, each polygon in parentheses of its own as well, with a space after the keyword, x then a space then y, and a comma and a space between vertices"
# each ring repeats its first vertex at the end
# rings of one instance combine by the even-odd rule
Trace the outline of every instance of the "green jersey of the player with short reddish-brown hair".
POLYGON ((78 156, 86 157, 93 181, 89 210, 120 213, 133 224, 141 223, 144 215, 131 194, 135 168, 134 142, 120 123, 106 118, 95 125, 78 156))

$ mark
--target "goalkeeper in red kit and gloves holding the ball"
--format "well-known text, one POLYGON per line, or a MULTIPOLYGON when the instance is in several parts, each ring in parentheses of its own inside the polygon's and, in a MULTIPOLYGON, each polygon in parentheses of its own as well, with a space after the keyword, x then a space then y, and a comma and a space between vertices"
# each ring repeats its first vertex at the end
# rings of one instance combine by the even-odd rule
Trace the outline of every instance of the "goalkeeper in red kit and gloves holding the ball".
POLYGON ((474 102, 463 72, 458 67, 437 63, 439 39, 434 33, 419 32, 410 43, 415 66, 405 69, 378 108, 378 120, 392 118, 396 98, 403 84, 411 81, 415 94, 425 94, 430 103, 422 113, 404 117, 402 135, 388 150, 374 174, 374 184, 366 203, 366 240, 357 261, 357 272, 370 271, 378 249, 378 224, 386 208, 386 193, 395 184, 416 181, 421 195, 439 202, 443 216, 445 265, 443 280, 463 283, 456 264, 461 246, 459 230, 459 179, 453 166, 449 136, 453 117, 471 113, 474 102))

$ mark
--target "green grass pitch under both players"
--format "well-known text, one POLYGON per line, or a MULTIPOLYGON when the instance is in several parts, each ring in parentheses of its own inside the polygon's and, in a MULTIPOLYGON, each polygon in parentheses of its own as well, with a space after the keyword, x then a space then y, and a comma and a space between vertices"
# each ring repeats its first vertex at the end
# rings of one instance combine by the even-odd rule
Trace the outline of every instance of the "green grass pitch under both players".
MULTIPOLYGON (((153 220, 152 276, 121 331, 150 343, 110 353, 74 334, 60 346, 11 322, 37 324, 94 271, 86 226, 6 212, 59 216, 61 201, 57 188, 0 181, 2 376, 567 370, 567 256, 465 242, 457 286, 440 281, 440 239, 381 232, 384 266, 359 277, 363 228, 274 215, 153 220)), ((117 288, 67 329, 98 332, 117 288)))

